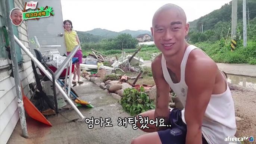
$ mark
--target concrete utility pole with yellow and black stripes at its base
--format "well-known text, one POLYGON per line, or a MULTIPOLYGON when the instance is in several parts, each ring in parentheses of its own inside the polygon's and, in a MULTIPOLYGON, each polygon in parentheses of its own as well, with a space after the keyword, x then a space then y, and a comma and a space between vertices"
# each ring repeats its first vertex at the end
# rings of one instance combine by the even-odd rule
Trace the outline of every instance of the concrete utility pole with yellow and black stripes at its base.
POLYGON ((232 0, 232 26, 231 26, 231 51, 235 50, 237 42, 237 0, 232 0))

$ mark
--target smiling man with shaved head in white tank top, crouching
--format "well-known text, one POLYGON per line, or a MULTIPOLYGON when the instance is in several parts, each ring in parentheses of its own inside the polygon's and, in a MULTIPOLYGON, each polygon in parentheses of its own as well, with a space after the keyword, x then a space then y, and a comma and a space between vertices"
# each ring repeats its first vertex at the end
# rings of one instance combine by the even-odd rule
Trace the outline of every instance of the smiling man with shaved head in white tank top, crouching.
MULTIPOLYGON (((166 4, 156 11, 152 35, 162 52, 152 62, 156 83, 156 109, 140 115, 165 119, 171 127, 147 125, 150 132, 132 144, 228 144, 236 132, 235 110, 224 73, 196 46, 185 41, 189 24, 181 7, 166 4), (183 110, 169 108, 169 87, 183 110)), ((141 124, 137 123, 140 128, 141 124)))

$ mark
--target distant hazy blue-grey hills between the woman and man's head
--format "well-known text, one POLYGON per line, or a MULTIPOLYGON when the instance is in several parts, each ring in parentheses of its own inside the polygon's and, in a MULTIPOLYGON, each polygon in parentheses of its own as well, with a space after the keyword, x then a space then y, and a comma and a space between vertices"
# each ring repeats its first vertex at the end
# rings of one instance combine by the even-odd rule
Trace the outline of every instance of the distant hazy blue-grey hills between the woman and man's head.
POLYGON ((89 34, 93 34, 93 35, 99 35, 99 36, 103 36, 103 37, 108 37, 108 38, 113 38, 118 36, 119 34, 122 33, 127 33, 127 34, 131 34, 132 37, 137 37, 140 34, 150 34, 150 31, 144 31, 144 30, 138 30, 138 31, 131 31, 129 29, 126 29, 124 31, 121 32, 115 32, 115 31, 109 31, 107 29, 101 29, 101 28, 95 28, 91 31, 86 31, 89 34))

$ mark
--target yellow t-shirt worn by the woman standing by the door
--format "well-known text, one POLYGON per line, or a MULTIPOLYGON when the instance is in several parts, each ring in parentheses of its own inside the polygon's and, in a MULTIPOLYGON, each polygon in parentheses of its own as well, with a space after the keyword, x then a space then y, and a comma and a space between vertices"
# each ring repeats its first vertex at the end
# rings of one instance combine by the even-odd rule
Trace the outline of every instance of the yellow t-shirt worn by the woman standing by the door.
POLYGON ((75 46, 78 45, 77 42, 77 32, 72 30, 70 33, 65 29, 65 42, 66 42, 66 48, 67 52, 71 52, 75 46))

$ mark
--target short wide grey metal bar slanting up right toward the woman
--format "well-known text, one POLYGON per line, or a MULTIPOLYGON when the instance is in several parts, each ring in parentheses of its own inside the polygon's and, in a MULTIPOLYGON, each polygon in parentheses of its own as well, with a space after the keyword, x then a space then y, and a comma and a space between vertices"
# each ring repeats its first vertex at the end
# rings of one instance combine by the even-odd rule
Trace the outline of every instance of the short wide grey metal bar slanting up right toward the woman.
MULTIPOLYGON (((78 48, 80 47, 80 44, 78 44, 77 46, 75 46, 74 50, 71 51, 71 53, 69 53, 68 57, 66 57, 66 59, 63 61, 62 65, 57 69, 56 72, 54 72, 55 74, 55 79, 58 79, 62 73, 62 71, 66 68, 66 66, 69 63, 69 60, 71 60, 71 57, 74 57, 75 53, 77 52, 78 48)), ((72 60, 71 60, 72 61, 72 60)))

